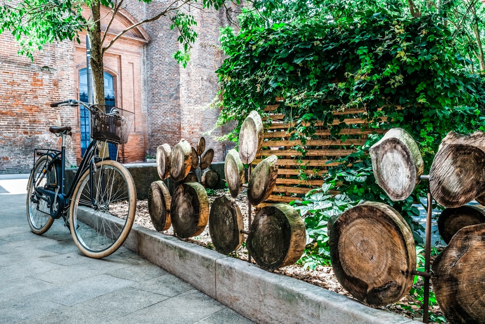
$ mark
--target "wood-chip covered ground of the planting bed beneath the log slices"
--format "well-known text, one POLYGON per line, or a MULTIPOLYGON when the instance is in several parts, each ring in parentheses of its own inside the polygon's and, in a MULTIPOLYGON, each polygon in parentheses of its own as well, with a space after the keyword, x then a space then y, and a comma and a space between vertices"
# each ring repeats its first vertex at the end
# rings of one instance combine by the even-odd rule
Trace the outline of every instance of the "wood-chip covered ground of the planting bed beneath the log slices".
MULTIPOLYGON (((248 202, 247 202, 247 195, 245 192, 245 188, 242 189, 241 193, 239 194, 238 198, 236 199, 236 203, 238 204, 239 208, 241 209, 241 213, 244 218, 244 229, 248 230, 248 202)), ((228 194, 228 190, 213 190, 213 194, 209 195, 209 204, 211 204, 215 198, 223 195, 223 194, 228 194)), ((255 210, 253 208, 252 215, 255 215, 255 210)), ((137 211, 136 211, 136 217, 135 217, 135 223, 145 226, 146 228, 150 228, 155 230, 153 227, 153 224, 150 219, 150 215, 148 213, 148 203, 147 200, 139 200, 137 204, 137 211)), ((167 234, 167 235, 174 235, 172 227, 170 227, 168 230, 163 231, 162 233, 167 234)), ((197 237, 190 238, 190 239, 183 239, 184 241, 192 242, 194 244, 198 244, 201 246, 204 246, 206 248, 214 249, 211 239, 210 239, 210 234, 209 234, 209 226, 206 226, 204 232, 200 234, 197 237)), ((235 252, 231 253, 230 256, 237 257, 241 260, 247 261, 247 250, 243 246, 241 246, 238 250, 235 252)), ((254 261, 252 261, 254 263, 254 261)), ((311 270, 311 269, 304 269, 302 266, 298 264, 294 264, 291 266, 283 267, 280 268, 276 271, 275 273, 281 273, 285 274, 288 276, 291 276, 293 278, 299 279, 299 280, 304 280, 312 285, 322 287, 323 289, 326 290, 331 290, 335 291, 339 294, 349 296, 352 298, 352 296, 342 288, 342 286, 339 284, 339 281, 335 277, 335 274, 333 273, 332 267, 322 267, 319 266, 317 267, 316 270, 311 270)), ((423 282, 421 279, 418 280, 418 282, 415 284, 415 288, 422 287, 423 282)), ((388 305, 386 307, 383 307, 385 309, 388 309, 389 311, 392 311, 394 313, 401 314, 405 317, 408 317, 410 319, 414 319, 417 321, 422 320, 422 310, 418 306, 420 305, 420 302, 417 301, 415 298, 413 298, 410 294, 406 295, 401 301, 399 301, 396 304, 393 305, 388 305)), ((442 312, 440 311, 439 307, 435 306, 430 309, 430 311, 435 315, 435 316, 443 316, 442 312)), ((429 323, 437 323, 430 321, 429 323)), ((446 322, 445 322, 446 323, 446 322)))

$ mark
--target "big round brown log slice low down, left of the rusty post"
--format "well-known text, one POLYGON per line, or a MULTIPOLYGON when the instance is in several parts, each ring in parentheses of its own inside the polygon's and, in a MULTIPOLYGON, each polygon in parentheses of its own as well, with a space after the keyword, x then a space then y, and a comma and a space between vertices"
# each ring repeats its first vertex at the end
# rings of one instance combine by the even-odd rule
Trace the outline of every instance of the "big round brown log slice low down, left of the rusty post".
POLYGON ((395 303, 413 286, 413 234, 386 204, 365 202, 342 213, 330 228, 329 245, 335 276, 366 305, 395 303))

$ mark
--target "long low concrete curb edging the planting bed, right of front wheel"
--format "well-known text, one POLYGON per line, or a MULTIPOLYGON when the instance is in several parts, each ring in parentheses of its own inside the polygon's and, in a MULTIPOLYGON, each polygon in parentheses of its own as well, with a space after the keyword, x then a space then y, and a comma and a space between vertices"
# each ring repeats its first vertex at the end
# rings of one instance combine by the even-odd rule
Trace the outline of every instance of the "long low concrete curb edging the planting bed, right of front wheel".
POLYGON ((257 323, 421 323, 137 224, 125 246, 257 323))

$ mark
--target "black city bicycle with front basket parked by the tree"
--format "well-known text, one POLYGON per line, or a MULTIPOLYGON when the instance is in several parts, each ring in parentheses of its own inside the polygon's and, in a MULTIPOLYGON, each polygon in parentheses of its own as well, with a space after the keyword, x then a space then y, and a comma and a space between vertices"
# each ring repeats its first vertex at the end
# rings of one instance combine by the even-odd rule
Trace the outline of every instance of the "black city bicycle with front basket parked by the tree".
POLYGON ((108 142, 128 141, 134 115, 116 107, 105 113, 111 106, 72 99, 50 104, 51 107, 78 105, 90 111, 93 140, 66 190, 65 141, 72 135, 71 127, 49 128, 61 137, 61 150, 34 150, 27 186, 27 219, 31 231, 42 235, 54 220, 62 217, 79 250, 86 256, 101 258, 124 243, 135 218, 136 189, 131 174, 121 163, 103 157, 108 142))

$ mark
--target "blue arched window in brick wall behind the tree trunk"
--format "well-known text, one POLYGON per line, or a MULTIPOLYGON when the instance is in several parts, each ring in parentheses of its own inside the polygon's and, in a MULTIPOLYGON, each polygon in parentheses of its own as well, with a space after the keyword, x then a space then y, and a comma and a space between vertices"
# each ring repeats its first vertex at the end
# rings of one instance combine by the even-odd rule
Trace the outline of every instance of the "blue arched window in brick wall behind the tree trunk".
MULTIPOLYGON (((81 68, 79 70, 79 100, 83 102, 90 102, 88 100, 88 82, 87 82, 87 68, 81 68)), ((104 72, 104 101, 106 105, 114 106, 114 89, 113 89, 113 76, 104 72)), ((80 109, 80 126, 81 126, 81 156, 86 152, 90 137, 90 122, 89 111, 83 106, 79 106, 80 109)), ((116 147, 113 144, 109 145, 110 157, 116 158, 116 147)))

